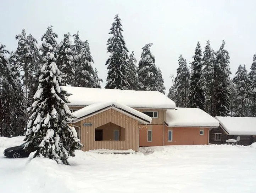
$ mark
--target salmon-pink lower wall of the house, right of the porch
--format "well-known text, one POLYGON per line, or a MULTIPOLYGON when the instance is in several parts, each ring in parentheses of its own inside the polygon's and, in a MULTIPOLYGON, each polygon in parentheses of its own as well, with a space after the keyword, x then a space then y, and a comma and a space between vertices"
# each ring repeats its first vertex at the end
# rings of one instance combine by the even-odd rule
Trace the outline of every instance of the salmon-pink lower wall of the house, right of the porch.
POLYGON ((162 145, 208 145, 208 132, 210 128, 194 127, 166 127, 165 143, 163 144, 163 125, 148 125, 140 129, 139 146, 162 145), (148 130, 152 129, 152 142, 148 142, 148 130), (168 130, 172 130, 172 142, 168 141, 168 130), (200 135, 204 130, 204 135, 200 135))

